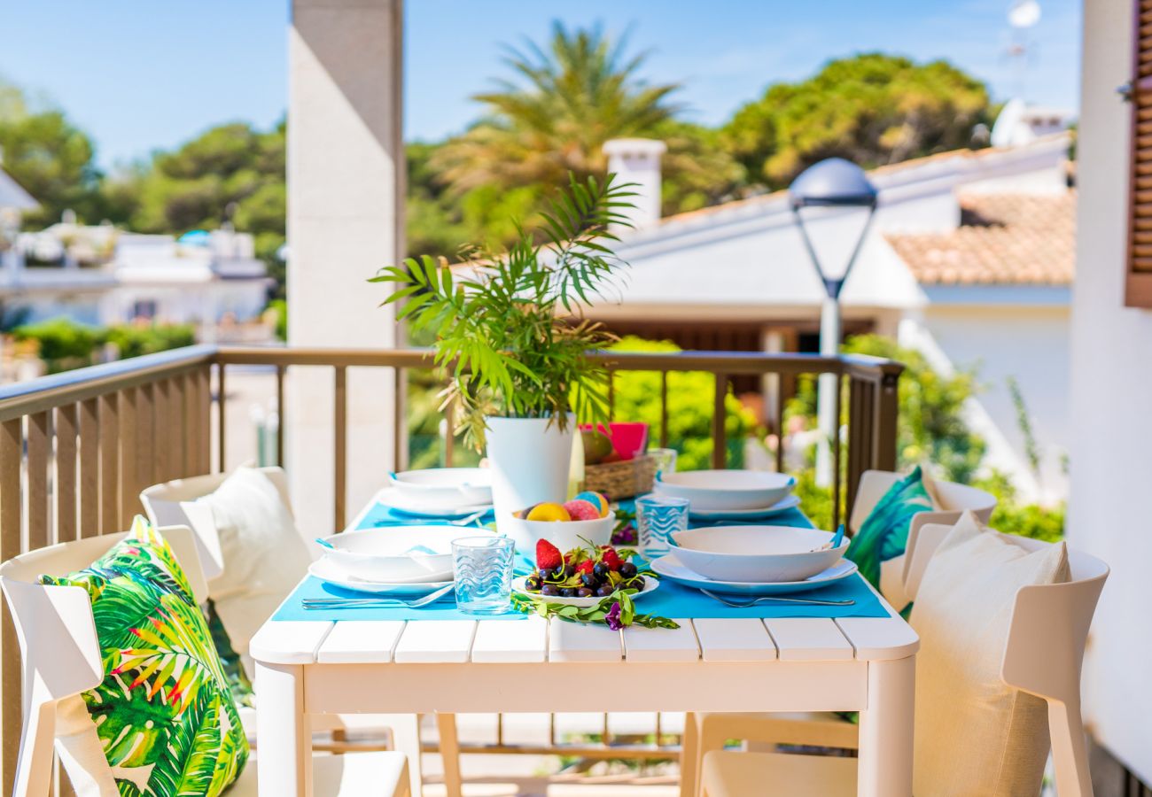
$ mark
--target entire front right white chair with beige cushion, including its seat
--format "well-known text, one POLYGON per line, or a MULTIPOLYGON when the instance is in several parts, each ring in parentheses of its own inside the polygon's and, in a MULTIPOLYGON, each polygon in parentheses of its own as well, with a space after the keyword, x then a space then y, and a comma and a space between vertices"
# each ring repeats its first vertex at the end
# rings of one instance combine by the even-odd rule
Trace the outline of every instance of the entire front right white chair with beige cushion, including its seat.
MULTIPOLYGON (((947 525, 919 525, 909 537, 905 586, 910 595, 915 597, 919 590, 929 560, 949 530, 947 525)), ((1001 537, 1025 551, 1051 545, 1009 534, 1001 537)), ((1108 567, 1075 551, 1069 551, 1068 557, 1069 582, 1023 586, 1016 592, 1000 677, 1008 686, 1047 703, 1060 796, 1090 797, 1092 782, 1081 718, 1081 668, 1089 625, 1108 567)), ((820 721, 844 724, 833 719, 820 721)), ((956 754, 963 756, 964 751, 957 750, 956 754)), ((714 750, 704 757, 699 780, 704 797, 764 795, 766 783, 772 784, 773 794, 847 796, 856 794, 856 759, 714 750)), ((968 792, 963 784, 953 783, 952 794, 968 792)))

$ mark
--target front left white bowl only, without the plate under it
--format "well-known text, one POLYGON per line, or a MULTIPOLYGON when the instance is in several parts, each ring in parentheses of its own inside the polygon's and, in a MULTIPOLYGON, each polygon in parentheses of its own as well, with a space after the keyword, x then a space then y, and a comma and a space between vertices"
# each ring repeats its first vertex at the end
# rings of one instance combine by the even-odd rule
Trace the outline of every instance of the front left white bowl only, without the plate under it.
POLYGON ((324 555, 356 578, 388 584, 452 580, 452 541, 485 533, 453 525, 346 531, 326 537, 324 555))

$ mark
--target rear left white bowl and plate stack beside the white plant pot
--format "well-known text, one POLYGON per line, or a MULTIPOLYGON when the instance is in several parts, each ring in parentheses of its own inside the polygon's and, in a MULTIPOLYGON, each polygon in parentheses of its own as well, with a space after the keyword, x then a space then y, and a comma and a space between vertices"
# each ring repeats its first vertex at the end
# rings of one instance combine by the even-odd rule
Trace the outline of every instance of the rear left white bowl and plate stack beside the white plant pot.
POLYGON ((492 507, 492 473, 482 468, 389 473, 389 485, 377 500, 414 517, 457 519, 492 507))

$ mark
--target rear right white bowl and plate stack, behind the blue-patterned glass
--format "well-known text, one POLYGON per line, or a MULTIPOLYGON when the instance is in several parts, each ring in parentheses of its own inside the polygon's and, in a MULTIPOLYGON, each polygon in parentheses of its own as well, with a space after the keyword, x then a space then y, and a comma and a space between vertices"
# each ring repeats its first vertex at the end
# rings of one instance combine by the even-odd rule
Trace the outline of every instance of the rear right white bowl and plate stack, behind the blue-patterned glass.
POLYGON ((654 492, 687 499, 698 521, 771 517, 799 506, 791 495, 796 479, 756 470, 696 470, 659 475, 654 492))

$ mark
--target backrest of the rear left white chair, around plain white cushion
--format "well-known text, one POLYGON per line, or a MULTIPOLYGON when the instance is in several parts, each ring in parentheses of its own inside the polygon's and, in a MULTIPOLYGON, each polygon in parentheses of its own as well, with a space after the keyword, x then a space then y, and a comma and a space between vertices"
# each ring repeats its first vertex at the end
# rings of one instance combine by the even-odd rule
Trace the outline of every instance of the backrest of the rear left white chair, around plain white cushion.
MULTIPOLYGON (((288 511, 291 502, 288 500, 288 475, 282 468, 258 468, 275 485, 288 511)), ((220 536, 212 510, 206 504, 197 504, 196 499, 209 495, 223 484, 228 473, 210 473, 192 476, 187 479, 175 479, 152 485, 141 493, 141 503, 152 525, 184 525, 196 532, 200 560, 204 562, 204 574, 212 580, 225 569, 223 553, 220 548, 220 536)))

